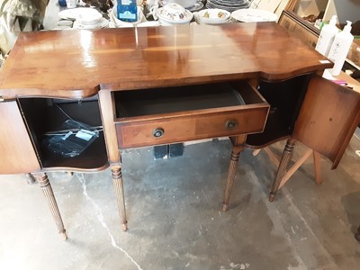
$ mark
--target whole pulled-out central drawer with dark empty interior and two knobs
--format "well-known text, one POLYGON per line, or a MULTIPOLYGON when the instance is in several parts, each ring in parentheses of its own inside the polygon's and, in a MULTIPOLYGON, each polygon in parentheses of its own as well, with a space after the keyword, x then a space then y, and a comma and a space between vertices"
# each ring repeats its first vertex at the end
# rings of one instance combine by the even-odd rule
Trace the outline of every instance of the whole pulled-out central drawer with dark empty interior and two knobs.
POLYGON ((120 148, 256 133, 269 104, 246 82, 114 92, 120 148))

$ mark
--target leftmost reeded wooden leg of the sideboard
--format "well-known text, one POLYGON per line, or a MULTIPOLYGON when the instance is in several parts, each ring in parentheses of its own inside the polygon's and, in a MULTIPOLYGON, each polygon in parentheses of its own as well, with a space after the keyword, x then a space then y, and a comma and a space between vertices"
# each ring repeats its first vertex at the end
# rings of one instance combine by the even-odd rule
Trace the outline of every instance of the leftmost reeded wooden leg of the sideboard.
POLYGON ((48 175, 45 173, 33 174, 35 180, 38 182, 41 192, 44 194, 46 201, 49 204, 49 209, 51 211, 52 217, 54 218, 57 227, 58 233, 62 235, 64 240, 67 239, 67 232, 64 228, 64 223, 62 222, 60 212, 58 211, 58 203, 55 200, 54 193, 52 192, 51 184, 49 183, 48 175))

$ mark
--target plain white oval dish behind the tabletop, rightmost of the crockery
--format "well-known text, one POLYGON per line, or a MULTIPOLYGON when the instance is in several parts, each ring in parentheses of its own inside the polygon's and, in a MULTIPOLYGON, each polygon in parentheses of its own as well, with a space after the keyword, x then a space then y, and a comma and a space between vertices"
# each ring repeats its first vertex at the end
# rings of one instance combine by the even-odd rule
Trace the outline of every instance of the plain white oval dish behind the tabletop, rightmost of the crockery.
POLYGON ((238 9, 232 12, 231 17, 243 23, 276 22, 277 15, 262 9, 238 9))

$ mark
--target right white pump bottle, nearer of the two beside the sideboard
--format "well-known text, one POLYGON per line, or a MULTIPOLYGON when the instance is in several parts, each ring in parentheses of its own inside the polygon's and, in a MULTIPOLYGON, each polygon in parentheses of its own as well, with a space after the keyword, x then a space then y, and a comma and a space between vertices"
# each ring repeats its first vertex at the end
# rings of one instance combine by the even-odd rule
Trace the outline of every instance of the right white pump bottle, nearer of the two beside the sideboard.
POLYGON ((341 68, 344 66, 347 52, 353 43, 354 36, 350 33, 351 22, 347 21, 344 30, 337 33, 334 42, 331 45, 328 58, 334 62, 334 67, 330 69, 333 76, 340 74, 341 68))

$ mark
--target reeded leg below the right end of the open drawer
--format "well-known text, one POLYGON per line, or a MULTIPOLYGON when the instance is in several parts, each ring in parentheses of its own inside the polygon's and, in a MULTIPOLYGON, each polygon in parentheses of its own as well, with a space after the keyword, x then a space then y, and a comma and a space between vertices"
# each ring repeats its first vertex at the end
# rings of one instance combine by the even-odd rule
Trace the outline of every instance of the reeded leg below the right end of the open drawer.
POLYGON ((227 211, 229 206, 230 195, 232 191, 232 185, 234 184, 235 175, 238 168, 238 158, 243 151, 243 147, 233 147, 231 151, 228 180, 226 181, 224 201, 222 202, 222 211, 227 211))

